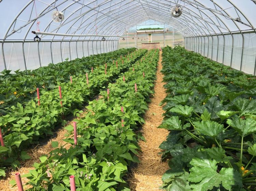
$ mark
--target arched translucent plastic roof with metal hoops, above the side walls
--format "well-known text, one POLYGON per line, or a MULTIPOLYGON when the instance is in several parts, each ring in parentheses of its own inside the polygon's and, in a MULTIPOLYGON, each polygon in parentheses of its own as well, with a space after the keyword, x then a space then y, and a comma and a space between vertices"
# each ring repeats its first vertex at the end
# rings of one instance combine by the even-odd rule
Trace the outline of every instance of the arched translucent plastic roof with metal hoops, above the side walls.
MULTIPOLYGON (((256 32, 256 0, 0 0, 6 41, 33 40, 31 31, 72 35, 108 35, 119 39, 126 29, 152 19, 179 30, 184 37, 256 32), (179 18, 171 8, 182 7, 179 18), (9 8, 11 7, 11 9, 9 8), (52 12, 64 20, 54 22, 52 12)), ((40 35, 42 40, 97 40, 98 36, 40 35)))

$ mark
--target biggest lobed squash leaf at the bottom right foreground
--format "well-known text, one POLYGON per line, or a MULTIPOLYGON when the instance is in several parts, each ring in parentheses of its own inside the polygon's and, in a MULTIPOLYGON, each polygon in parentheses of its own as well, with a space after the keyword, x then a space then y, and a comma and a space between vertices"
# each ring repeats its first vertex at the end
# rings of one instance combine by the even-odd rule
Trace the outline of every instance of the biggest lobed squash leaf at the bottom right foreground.
POLYGON ((242 186, 242 177, 232 168, 222 168, 217 172, 217 162, 213 159, 193 158, 190 164, 188 180, 197 183, 191 188, 195 191, 212 190, 214 187, 222 185, 225 189, 231 190, 234 185, 242 186))

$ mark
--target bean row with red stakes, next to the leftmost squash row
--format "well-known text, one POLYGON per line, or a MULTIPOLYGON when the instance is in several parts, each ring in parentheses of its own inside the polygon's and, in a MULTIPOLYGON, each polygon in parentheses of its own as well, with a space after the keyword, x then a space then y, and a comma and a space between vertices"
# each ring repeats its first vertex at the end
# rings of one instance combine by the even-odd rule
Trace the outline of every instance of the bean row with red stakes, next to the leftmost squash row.
POLYGON ((40 94, 40 105, 37 104, 38 99, 34 99, 25 106, 20 103, 12 106, 8 115, 0 117, 4 138, 4 146, 0 147, 0 174, 4 175, 4 168, 10 164, 13 169, 19 165, 19 154, 22 160, 27 159, 29 156, 23 151, 25 148, 36 143, 39 138, 52 135, 56 124, 66 123, 64 116, 79 112, 77 108, 81 108, 84 102, 88 102, 89 98, 116 79, 120 72, 125 71, 145 52, 138 50, 127 57, 118 58, 117 65, 111 63, 99 66, 88 74, 88 84, 84 74, 73 76, 72 83, 58 82, 59 88, 55 86, 55 89, 40 94), (59 89, 62 99, 59 97, 59 89))

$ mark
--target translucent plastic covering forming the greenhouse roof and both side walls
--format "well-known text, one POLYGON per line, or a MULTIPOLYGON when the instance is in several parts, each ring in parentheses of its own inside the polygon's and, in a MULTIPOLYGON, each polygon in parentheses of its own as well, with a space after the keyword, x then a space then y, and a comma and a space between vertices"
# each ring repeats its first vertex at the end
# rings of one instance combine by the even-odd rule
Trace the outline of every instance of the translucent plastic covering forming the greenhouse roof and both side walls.
MULTIPOLYGON (((154 20, 178 31, 186 49, 255 75, 255 10, 256 0, 3 0, 0 71, 114 51, 129 28, 154 20), (183 7, 179 18, 170 14, 175 5, 183 7), (52 20, 56 10, 65 15, 63 21, 52 20), (51 34, 39 34, 41 41, 35 42, 31 31, 51 34)), ((157 35, 162 34, 152 38, 157 35)), ((130 45, 137 47, 138 41, 130 45)))

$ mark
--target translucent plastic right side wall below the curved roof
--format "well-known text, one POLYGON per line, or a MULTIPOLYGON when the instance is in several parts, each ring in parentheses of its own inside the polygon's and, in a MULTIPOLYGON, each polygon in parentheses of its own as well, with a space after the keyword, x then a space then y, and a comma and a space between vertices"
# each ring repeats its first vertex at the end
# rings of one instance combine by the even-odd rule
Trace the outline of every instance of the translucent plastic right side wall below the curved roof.
POLYGON ((185 37, 185 48, 216 62, 256 75, 256 34, 185 37))

